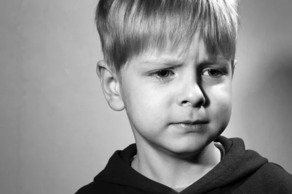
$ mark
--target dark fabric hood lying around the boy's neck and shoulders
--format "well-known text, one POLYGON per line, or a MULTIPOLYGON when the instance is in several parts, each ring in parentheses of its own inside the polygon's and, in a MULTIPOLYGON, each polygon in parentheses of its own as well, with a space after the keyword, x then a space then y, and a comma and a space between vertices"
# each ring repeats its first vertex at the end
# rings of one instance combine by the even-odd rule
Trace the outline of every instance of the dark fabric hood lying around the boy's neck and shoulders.
MULTIPOLYGON (((201 194, 219 187, 227 187, 249 177, 268 162, 256 151, 246 150, 240 138, 219 136, 214 142, 219 142, 224 146, 225 156, 212 170, 185 190, 194 189, 196 194, 201 194)), ((130 166, 130 159, 136 153, 136 144, 131 144, 124 150, 115 151, 105 169, 94 178, 94 181, 128 186, 145 193, 175 193, 171 188, 146 178, 130 166)))

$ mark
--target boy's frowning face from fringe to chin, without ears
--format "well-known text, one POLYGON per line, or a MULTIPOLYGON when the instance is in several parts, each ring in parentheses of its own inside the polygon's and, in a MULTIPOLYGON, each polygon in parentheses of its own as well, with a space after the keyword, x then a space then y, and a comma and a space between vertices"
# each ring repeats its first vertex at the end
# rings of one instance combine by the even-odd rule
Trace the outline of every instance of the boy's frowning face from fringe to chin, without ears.
POLYGON ((186 154, 207 146, 229 122, 231 64, 208 57, 198 35, 181 56, 165 52, 135 58, 122 68, 121 78, 137 144, 186 154), (178 124, 188 122, 196 124, 178 124))

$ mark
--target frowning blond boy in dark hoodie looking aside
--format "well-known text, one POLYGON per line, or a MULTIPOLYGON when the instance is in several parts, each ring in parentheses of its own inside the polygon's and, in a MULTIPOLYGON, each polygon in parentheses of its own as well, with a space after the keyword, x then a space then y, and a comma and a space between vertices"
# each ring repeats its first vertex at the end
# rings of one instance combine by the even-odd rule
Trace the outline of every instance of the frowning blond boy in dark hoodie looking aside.
POLYGON ((136 144, 77 194, 288 194, 292 175, 239 138, 231 115, 235 0, 100 0, 97 75, 136 144))

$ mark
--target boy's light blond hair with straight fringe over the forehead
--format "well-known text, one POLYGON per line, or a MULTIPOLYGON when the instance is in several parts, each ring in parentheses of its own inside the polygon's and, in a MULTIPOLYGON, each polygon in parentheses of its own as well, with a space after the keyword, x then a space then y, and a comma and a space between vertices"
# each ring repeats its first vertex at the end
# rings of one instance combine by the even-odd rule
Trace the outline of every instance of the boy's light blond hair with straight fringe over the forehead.
POLYGON ((233 62, 237 9, 237 0, 100 0, 95 22, 104 60, 116 72, 145 51, 183 52, 196 32, 209 54, 233 62))

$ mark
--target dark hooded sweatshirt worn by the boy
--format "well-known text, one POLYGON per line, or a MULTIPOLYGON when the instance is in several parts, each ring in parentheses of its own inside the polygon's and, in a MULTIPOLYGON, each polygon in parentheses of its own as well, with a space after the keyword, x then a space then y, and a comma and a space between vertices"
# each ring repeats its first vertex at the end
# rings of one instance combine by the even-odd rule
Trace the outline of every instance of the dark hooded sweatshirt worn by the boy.
MULTIPOLYGON (((219 136, 214 142, 224 146, 226 155, 180 194, 292 194, 292 175, 246 150, 242 139, 219 136)), ((135 144, 115 151, 105 169, 76 194, 178 194, 135 171, 130 162, 136 153, 135 144)))

